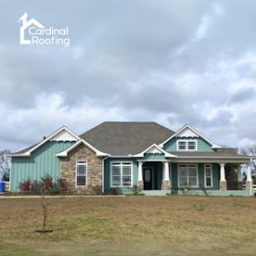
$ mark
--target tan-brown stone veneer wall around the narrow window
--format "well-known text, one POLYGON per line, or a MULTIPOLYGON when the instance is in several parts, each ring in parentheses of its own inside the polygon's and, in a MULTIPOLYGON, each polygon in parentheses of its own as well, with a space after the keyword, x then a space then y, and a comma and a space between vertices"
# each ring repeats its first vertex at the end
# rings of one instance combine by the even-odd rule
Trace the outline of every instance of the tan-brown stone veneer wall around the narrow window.
POLYGON ((98 157, 93 150, 81 144, 60 158, 61 178, 66 179, 69 191, 83 191, 89 194, 102 192, 102 157, 98 157), (75 188, 76 161, 87 162, 87 184, 85 187, 75 188))

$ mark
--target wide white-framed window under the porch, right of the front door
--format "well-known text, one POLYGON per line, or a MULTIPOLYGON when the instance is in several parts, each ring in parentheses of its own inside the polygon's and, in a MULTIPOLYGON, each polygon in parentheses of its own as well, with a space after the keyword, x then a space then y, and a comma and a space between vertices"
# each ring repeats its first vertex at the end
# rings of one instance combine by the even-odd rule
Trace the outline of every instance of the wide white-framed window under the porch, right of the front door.
POLYGON ((179 187, 199 187, 199 168, 198 164, 179 164, 178 165, 178 186, 179 187))

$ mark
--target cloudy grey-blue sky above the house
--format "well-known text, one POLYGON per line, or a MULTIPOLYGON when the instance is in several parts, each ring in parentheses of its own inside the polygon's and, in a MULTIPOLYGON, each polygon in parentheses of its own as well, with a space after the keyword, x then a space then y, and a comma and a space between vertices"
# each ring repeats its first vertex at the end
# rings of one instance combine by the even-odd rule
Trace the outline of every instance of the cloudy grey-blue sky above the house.
POLYGON ((0 17, 0 149, 106 120, 256 142, 255 1, 5 0, 0 17), (71 45, 20 45, 25 12, 71 45))

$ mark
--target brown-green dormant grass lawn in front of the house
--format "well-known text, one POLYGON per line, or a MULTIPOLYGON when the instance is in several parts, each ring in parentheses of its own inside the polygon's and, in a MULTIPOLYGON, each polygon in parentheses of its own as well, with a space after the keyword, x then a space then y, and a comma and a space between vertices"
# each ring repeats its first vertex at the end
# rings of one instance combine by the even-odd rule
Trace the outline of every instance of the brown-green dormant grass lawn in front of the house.
POLYGON ((0 199, 0 255, 256 255, 256 199, 0 199))

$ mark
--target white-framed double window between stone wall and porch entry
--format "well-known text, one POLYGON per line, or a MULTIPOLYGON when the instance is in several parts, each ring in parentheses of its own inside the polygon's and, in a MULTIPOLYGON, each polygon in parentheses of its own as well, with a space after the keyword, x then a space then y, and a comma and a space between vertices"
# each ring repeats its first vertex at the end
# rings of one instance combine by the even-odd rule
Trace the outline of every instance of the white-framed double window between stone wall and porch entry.
POLYGON ((111 163, 110 187, 130 187, 131 166, 129 162, 111 163))

